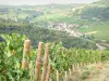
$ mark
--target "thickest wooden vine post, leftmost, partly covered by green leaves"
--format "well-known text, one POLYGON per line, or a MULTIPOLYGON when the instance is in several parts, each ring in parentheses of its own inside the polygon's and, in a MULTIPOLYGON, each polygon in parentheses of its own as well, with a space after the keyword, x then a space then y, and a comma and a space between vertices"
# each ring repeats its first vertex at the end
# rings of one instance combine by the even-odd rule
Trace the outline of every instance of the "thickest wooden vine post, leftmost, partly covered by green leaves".
POLYGON ((23 60, 22 60, 22 68, 28 68, 28 56, 31 51, 31 40, 25 40, 24 42, 24 51, 23 51, 23 60))

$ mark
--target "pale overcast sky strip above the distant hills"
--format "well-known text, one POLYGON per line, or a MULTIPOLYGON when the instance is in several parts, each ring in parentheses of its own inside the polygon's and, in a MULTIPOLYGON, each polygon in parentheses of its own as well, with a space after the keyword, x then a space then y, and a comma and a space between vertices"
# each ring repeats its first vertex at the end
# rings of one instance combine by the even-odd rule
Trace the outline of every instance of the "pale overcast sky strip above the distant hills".
POLYGON ((92 3, 98 0, 0 0, 0 4, 48 4, 48 3, 92 3))

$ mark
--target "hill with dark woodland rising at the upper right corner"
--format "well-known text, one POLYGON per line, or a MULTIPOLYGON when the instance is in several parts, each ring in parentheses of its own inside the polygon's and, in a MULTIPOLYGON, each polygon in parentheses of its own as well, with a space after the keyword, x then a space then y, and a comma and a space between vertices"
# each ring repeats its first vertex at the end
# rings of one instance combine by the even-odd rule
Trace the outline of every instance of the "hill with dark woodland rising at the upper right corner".
POLYGON ((100 0, 85 6, 81 13, 81 18, 109 21, 109 0, 100 0))

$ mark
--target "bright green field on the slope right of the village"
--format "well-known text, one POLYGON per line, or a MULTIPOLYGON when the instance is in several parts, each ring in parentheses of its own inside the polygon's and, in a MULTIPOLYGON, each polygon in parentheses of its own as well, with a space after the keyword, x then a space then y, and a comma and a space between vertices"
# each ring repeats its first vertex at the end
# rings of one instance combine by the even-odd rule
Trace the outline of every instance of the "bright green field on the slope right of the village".
POLYGON ((109 24, 108 23, 96 23, 92 25, 92 27, 86 28, 80 28, 78 29, 81 32, 92 32, 92 31, 97 31, 94 33, 96 39, 104 39, 104 40, 109 40, 109 24))

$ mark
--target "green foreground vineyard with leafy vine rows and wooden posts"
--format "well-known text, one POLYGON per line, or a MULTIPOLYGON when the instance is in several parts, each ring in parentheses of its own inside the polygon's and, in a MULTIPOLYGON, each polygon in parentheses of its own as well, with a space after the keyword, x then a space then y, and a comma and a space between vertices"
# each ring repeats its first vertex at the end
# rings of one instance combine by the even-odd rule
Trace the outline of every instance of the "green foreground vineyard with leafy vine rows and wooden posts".
POLYGON ((35 49, 25 36, 1 37, 0 81, 73 81, 72 70, 109 60, 109 51, 65 49, 61 42, 39 42, 35 49))

